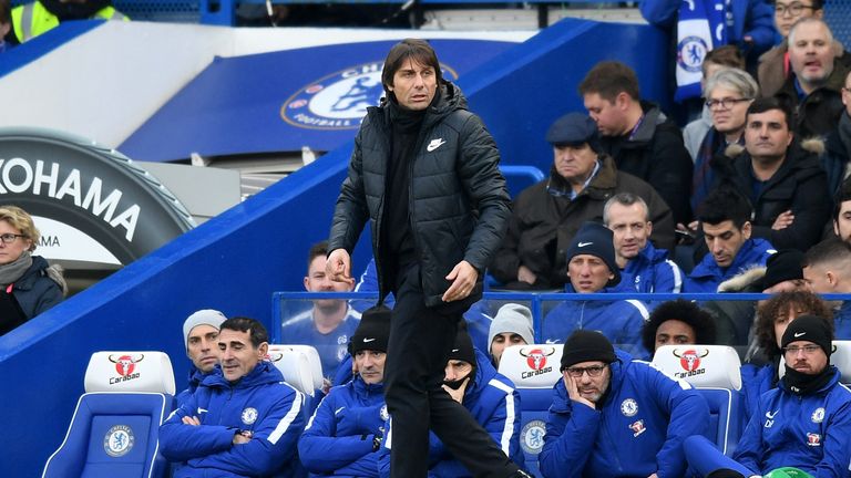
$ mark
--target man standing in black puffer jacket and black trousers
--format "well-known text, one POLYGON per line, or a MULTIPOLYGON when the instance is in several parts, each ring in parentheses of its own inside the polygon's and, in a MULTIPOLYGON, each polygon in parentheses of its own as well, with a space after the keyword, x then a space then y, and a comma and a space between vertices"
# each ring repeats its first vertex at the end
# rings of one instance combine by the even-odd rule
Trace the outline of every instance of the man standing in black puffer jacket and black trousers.
POLYGON ((381 82, 387 97, 367 112, 337 199, 327 273, 353 283, 350 252, 371 219, 379 297, 396 297, 385 377, 391 475, 426 476, 431 428, 473 475, 525 476, 441 387, 507 226, 499 150, 427 42, 397 43, 381 82))

